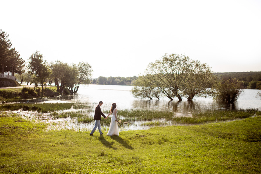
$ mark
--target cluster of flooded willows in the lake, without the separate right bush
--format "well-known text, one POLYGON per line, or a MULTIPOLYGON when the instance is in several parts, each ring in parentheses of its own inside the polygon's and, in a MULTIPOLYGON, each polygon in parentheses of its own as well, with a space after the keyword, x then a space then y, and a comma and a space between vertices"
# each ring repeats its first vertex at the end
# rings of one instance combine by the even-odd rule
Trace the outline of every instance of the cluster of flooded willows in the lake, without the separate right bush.
POLYGON ((207 64, 185 55, 165 54, 148 65, 146 75, 138 77, 131 92, 137 98, 165 96, 181 101, 183 96, 192 101, 194 96, 211 94, 209 88, 213 82, 213 73, 207 64))

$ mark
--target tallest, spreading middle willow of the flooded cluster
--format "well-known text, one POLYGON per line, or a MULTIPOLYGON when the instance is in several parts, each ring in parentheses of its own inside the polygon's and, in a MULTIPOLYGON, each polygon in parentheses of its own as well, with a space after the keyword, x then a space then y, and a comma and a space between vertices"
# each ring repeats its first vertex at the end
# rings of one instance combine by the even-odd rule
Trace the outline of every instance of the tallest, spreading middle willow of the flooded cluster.
POLYGON ((182 101, 180 88, 186 79, 189 68, 189 57, 178 54, 165 54, 155 63, 150 63, 146 69, 148 79, 160 92, 173 100, 177 97, 182 101))

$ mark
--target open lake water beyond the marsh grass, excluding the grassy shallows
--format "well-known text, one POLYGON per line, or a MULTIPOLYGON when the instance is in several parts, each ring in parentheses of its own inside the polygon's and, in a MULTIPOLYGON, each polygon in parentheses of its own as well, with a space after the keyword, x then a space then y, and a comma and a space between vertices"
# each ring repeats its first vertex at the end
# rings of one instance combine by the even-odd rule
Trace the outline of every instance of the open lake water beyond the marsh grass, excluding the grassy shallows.
MULTIPOLYGON (((178 102, 177 98, 170 101, 167 97, 160 100, 137 99, 131 94, 131 89, 132 86, 80 85, 78 93, 73 95, 70 101, 97 104, 99 101, 103 101, 104 105, 102 107, 108 107, 108 109, 112 103, 116 103, 118 109, 170 110, 180 114, 190 113, 191 110, 195 109, 261 109, 261 98, 255 97, 258 93, 258 90, 255 89, 244 89, 238 101, 229 105, 224 102, 215 101, 212 98, 204 97, 194 97, 193 102, 188 102, 185 97, 182 98, 181 102, 178 102)), ((68 99, 57 99, 68 101, 68 99)))

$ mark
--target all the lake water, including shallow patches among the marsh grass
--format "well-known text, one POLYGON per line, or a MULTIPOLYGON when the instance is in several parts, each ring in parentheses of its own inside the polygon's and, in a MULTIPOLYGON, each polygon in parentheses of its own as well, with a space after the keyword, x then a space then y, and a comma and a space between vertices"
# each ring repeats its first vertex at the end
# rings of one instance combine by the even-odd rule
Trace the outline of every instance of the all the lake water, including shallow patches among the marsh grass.
MULTIPOLYGON (((64 103, 64 102, 85 102, 93 106, 93 112, 86 112, 86 115, 93 117, 94 107, 99 101, 103 101, 102 110, 109 110, 112 103, 117 104, 118 110, 123 109, 142 109, 142 110, 168 110, 173 111, 176 116, 191 117, 194 110, 208 109, 249 109, 255 108, 261 110, 261 100, 256 98, 258 90, 245 89, 240 95, 237 102, 234 104, 226 104, 218 102, 212 98, 194 97, 193 102, 188 102, 186 98, 182 98, 181 102, 178 99, 170 101, 168 98, 160 100, 153 99, 136 99, 131 95, 132 86, 118 85, 80 85, 76 95, 59 96, 52 98, 39 99, 38 102, 45 103, 64 103)), ((75 111, 65 110, 62 112, 75 111)), ((20 115, 27 119, 35 119, 41 122, 48 123, 48 129, 70 129, 76 131, 90 131, 93 129, 94 122, 78 123, 77 119, 55 119, 49 114, 39 114, 37 112, 19 111, 20 115)), ((84 112, 84 110, 83 110, 84 112)), ((124 116, 119 115, 119 119, 124 116)), ((108 118, 110 119, 110 118, 108 118)), ((175 123, 165 120, 152 120, 152 122, 160 122, 161 126, 175 125, 175 123)), ((149 129, 151 126, 141 126, 144 121, 133 121, 128 124, 119 126, 119 131, 149 129)), ((108 126, 103 126, 103 130, 108 131, 108 126)))

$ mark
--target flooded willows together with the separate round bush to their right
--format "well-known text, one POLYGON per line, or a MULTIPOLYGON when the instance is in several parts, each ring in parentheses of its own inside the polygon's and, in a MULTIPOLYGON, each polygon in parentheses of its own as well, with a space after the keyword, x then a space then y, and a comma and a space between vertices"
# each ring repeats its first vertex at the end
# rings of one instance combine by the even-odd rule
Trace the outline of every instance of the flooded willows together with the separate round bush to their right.
POLYGON ((234 102, 242 93, 243 81, 232 77, 214 76, 207 64, 201 64, 188 56, 165 54, 150 63, 144 75, 133 82, 131 93, 137 98, 214 97, 228 103, 234 102))

